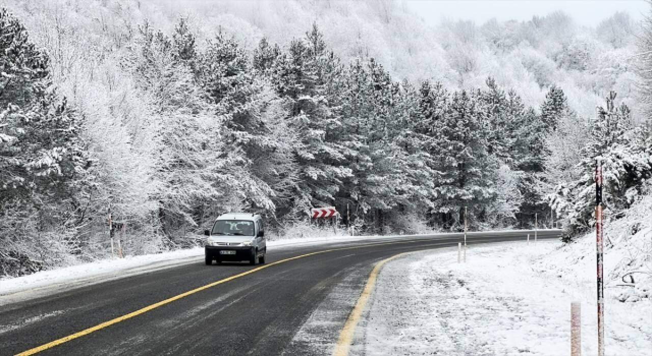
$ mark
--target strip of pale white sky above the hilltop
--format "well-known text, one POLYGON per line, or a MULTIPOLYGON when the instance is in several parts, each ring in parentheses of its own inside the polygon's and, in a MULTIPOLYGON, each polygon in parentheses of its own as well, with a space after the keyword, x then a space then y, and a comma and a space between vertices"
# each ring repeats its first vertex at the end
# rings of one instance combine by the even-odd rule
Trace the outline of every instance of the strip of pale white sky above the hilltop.
POLYGON ((408 7, 428 22, 473 20, 478 24, 496 18, 530 20, 562 10, 580 25, 595 26, 614 12, 629 12, 634 20, 642 20, 650 10, 645 0, 403 0, 408 7))

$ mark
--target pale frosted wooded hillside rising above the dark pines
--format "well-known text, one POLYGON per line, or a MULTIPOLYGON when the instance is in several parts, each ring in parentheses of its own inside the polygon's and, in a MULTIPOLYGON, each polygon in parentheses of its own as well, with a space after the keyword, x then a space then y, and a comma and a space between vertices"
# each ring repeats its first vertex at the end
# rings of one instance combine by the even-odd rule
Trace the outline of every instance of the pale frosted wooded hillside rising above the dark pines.
POLYGON ((561 12, 526 22, 429 25, 393 0, 2 0, 0 5, 25 21, 31 36, 48 53, 59 53, 63 61, 55 60, 53 65, 64 71, 77 56, 60 51, 78 48, 78 40, 91 39, 82 47, 90 45, 91 51, 102 47, 93 48, 93 42, 106 47, 128 41, 129 33, 145 20, 170 34, 178 18, 185 16, 200 48, 224 31, 249 52, 263 36, 287 46, 317 23, 326 43, 345 62, 374 57, 396 79, 413 83, 432 79, 446 87, 469 89, 481 87, 491 76, 533 106, 544 100, 546 87, 557 85, 582 116, 593 115, 609 90, 634 105, 632 54, 640 24, 625 13, 587 28, 561 12))

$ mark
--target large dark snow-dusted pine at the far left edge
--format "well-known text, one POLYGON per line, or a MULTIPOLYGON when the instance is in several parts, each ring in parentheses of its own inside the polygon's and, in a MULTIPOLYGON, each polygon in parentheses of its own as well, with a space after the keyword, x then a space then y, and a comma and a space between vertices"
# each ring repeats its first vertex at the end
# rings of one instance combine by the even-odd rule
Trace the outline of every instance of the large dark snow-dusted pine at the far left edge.
POLYGON ((0 12, 0 66, 0 267, 20 273, 7 271, 11 256, 33 264, 42 258, 35 241, 53 230, 65 235, 69 251, 82 245, 76 227, 91 185, 89 162, 78 115, 49 81, 48 58, 6 10, 0 12))

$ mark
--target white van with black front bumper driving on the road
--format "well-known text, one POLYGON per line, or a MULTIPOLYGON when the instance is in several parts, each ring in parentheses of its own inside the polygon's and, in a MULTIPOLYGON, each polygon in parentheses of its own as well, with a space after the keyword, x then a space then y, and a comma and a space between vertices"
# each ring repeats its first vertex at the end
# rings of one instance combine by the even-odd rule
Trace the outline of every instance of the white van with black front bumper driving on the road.
POLYGON ((204 246, 207 265, 224 261, 265 263, 267 243, 263 218, 252 213, 228 213, 215 220, 211 230, 205 230, 204 246))

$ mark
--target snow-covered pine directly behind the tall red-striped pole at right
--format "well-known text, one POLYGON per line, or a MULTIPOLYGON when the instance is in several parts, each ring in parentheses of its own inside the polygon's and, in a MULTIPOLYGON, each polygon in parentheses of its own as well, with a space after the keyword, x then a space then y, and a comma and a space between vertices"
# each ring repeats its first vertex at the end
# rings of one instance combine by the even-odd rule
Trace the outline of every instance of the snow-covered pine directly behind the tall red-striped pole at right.
POLYGON ((629 108, 615 106, 615 92, 606 99, 606 110, 591 123, 583 159, 578 168, 583 174, 572 181, 557 185, 552 206, 565 216, 572 232, 583 232, 595 223, 595 165, 603 165, 603 196, 606 217, 617 218, 641 194, 645 180, 652 177, 652 156, 645 140, 649 132, 634 130, 629 108))

